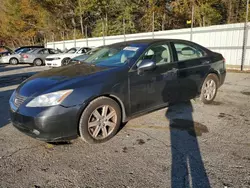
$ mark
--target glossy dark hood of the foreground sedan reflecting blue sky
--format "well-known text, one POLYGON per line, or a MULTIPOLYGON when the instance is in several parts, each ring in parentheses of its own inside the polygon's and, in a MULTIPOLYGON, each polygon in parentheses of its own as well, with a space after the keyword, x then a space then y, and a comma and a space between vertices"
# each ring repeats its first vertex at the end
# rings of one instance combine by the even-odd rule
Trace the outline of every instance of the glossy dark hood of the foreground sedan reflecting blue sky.
POLYGON ((35 97, 42 93, 53 92, 53 90, 71 89, 67 87, 72 83, 82 81, 90 75, 101 74, 108 69, 89 64, 50 69, 25 80, 17 88, 17 92, 25 97, 35 97))

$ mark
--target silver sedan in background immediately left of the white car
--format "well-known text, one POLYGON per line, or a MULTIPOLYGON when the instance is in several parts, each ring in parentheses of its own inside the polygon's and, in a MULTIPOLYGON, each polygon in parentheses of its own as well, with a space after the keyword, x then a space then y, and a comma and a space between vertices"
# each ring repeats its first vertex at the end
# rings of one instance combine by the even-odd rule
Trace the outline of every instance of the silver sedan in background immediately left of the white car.
POLYGON ((42 66, 45 64, 45 58, 52 54, 59 54, 60 51, 52 48, 34 49, 28 53, 21 54, 20 62, 42 66))

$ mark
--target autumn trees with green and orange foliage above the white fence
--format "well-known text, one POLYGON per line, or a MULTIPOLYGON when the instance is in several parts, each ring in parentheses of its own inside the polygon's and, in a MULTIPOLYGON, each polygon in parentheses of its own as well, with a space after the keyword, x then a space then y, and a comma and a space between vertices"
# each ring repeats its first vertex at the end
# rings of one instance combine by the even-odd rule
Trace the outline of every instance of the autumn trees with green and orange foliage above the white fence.
POLYGON ((1 0, 0 42, 19 46, 185 28, 192 6, 194 26, 245 19, 246 0, 1 0))

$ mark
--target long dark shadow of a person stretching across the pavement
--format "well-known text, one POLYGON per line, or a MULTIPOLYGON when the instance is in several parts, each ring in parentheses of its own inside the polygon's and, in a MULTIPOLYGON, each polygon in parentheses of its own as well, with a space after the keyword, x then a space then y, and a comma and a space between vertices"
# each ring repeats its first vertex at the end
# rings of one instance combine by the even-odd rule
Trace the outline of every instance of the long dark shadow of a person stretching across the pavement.
POLYGON ((197 140, 208 129, 205 125, 194 122, 192 113, 190 101, 171 105, 166 112, 170 122, 172 188, 211 187, 197 140))

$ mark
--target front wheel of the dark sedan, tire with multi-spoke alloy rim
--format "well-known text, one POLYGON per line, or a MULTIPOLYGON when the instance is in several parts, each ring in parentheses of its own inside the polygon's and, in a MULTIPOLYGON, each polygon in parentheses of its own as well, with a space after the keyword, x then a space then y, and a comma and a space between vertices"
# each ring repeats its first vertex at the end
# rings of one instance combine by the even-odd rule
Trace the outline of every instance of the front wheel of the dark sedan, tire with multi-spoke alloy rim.
POLYGON ((87 143, 103 143, 116 135, 120 125, 120 106, 108 97, 100 97, 93 100, 83 111, 79 121, 79 133, 87 143))

